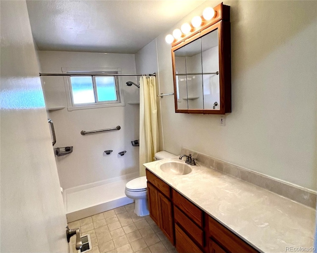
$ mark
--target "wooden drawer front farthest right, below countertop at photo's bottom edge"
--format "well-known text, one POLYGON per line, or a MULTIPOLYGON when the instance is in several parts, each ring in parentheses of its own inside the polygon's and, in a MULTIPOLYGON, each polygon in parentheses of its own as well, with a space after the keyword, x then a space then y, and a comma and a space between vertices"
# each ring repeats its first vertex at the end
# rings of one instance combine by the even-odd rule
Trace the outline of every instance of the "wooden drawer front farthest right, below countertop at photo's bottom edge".
POLYGON ((209 236, 229 252, 259 253, 211 217, 209 217, 209 236))

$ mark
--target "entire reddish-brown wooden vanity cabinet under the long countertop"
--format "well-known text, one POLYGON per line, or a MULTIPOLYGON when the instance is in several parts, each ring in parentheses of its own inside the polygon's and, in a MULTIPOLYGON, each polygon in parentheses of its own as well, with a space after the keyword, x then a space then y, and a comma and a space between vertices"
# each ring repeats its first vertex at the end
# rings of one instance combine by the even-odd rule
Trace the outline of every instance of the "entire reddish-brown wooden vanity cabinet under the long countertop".
POLYGON ((151 218, 178 253, 259 253, 146 169, 151 218))

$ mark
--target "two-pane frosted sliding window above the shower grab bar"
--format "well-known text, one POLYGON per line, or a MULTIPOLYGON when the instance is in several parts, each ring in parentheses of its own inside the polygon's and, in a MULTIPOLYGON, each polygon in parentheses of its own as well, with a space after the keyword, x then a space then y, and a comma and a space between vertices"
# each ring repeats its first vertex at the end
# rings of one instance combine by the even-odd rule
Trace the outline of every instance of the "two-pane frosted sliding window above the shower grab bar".
MULTIPOLYGON (((67 72, 71 74, 71 72, 67 72)), ((74 72, 73 72, 74 73, 74 72)), ((79 71, 76 71, 79 73, 79 71)), ((105 72, 103 72, 105 73, 105 72)), ((69 76, 68 110, 124 106, 117 76, 69 76)), ((109 72, 108 74, 114 74, 109 72)), ((116 74, 116 73, 115 73, 116 74)))

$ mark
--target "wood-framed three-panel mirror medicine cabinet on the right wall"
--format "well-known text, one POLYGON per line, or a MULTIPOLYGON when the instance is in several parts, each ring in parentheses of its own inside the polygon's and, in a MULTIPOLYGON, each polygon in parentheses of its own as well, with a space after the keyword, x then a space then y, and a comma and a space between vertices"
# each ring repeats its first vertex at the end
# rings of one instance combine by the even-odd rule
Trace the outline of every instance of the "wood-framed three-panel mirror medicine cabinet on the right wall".
POLYGON ((176 113, 231 112, 230 6, 213 10, 211 20, 172 43, 176 113))

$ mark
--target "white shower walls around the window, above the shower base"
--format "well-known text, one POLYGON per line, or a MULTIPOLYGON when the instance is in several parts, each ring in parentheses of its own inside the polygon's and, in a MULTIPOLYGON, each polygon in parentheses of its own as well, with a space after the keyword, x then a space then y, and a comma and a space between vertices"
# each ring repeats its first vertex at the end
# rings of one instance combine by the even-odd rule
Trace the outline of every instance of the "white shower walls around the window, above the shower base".
MULTIPOLYGON (((120 68, 122 74, 135 74, 134 54, 39 51, 43 73, 61 73, 61 68, 120 68)), ((54 147, 73 146, 73 153, 56 157, 63 188, 101 180, 119 180, 139 171, 139 147, 131 141, 139 139, 139 89, 127 86, 136 77, 121 77, 125 106, 86 110, 67 110, 63 77, 42 77, 47 108, 66 107, 49 111, 57 142, 54 147), (81 135, 91 131, 120 126, 120 130, 81 135), (105 150, 113 150, 110 155, 105 150), (118 152, 126 150, 124 156, 118 152)))

